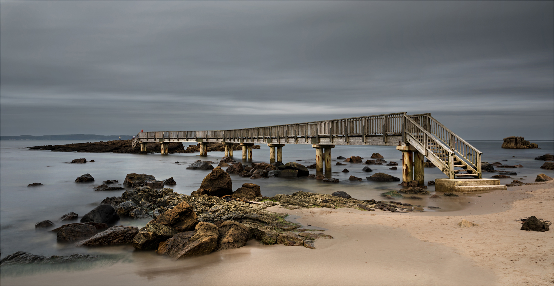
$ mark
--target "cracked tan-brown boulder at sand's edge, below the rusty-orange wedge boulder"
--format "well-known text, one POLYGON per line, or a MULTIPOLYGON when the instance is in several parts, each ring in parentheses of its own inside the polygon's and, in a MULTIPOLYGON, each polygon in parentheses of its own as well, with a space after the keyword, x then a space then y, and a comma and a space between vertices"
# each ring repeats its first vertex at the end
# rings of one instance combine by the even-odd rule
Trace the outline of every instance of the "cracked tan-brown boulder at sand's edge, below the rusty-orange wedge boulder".
POLYGON ((219 228, 213 223, 199 222, 196 232, 181 232, 160 243, 158 254, 166 254, 175 259, 208 254, 217 247, 219 228))

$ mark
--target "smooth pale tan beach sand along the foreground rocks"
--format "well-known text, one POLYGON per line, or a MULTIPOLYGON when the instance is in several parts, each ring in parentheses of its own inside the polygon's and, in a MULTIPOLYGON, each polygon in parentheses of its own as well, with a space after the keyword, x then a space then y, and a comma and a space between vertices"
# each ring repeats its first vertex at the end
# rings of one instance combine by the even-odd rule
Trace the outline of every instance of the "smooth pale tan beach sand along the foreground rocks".
MULTIPOLYGON (((133 262, 84 271, 2 277, 6 285, 552 285, 553 233, 521 231, 516 219, 554 221, 552 182, 475 194, 452 212, 268 210, 325 228, 317 249, 265 246, 172 261, 132 252, 133 262), (480 196, 480 197, 479 197, 480 196), (460 228, 462 219, 479 226, 460 228)), ((444 199, 443 199, 444 200, 444 199)), ((132 247, 131 247, 132 248, 132 247)), ((110 248, 104 248, 109 253, 110 248)))

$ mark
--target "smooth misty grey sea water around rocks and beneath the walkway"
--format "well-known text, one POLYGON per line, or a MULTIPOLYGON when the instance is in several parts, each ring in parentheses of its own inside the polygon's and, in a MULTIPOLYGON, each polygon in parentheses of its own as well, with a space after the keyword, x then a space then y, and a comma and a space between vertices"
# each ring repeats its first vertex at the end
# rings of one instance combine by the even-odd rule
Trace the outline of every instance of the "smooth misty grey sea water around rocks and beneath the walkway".
MULTIPOLYGON (((552 176, 552 171, 539 169, 544 162, 534 160, 535 157, 546 153, 552 153, 552 141, 532 141, 538 143, 542 149, 501 149, 502 141, 470 141, 476 148, 483 152, 483 161, 493 163, 507 159, 503 162, 509 165, 521 164, 524 168, 509 169, 517 171, 515 179, 523 178, 524 182, 534 181, 537 174, 545 173, 552 176), (515 158, 512 158, 515 156, 515 158)), ((56 242, 55 233, 43 230, 35 230, 34 224, 42 220, 50 220, 57 226, 62 223, 57 220, 62 215, 73 211, 79 215, 97 206, 101 200, 109 196, 119 196, 122 191, 95 191, 94 186, 104 180, 119 180, 120 183, 128 173, 146 173, 154 175, 158 180, 173 177, 177 185, 173 186, 177 193, 191 194, 199 188, 202 179, 210 171, 187 170, 186 167, 201 157, 196 154, 116 154, 116 153, 74 153, 74 152, 50 152, 40 150, 28 150, 25 147, 48 144, 80 143, 73 141, 2 141, 0 142, 0 256, 16 251, 25 251, 40 255, 69 255, 73 253, 126 253, 129 246, 108 248, 79 248, 73 244, 61 244, 56 242), (66 164, 76 158, 94 159, 93 163, 66 164), (176 164, 175 162, 179 162, 176 164), (89 173, 94 176, 94 184, 74 183, 75 178, 89 173), (43 183, 44 186, 28 188, 30 183, 43 183)), ((332 149, 334 158, 338 156, 360 156, 369 159, 372 153, 380 153, 384 159, 401 163, 401 152, 393 146, 341 146, 332 149)), ((216 161, 223 157, 223 152, 209 152, 205 160, 216 161)), ((235 158, 240 162, 240 151, 235 151, 235 158)), ((204 159, 204 158, 202 158, 204 159)), ((254 149, 253 163, 268 162, 269 149, 262 145, 261 149, 254 149)), ((315 163, 315 150, 310 145, 285 145, 283 148, 283 161, 298 162, 303 165, 315 163)), ((342 161, 342 160, 338 160, 342 161)), ((337 159, 333 160, 336 164, 337 159)), ((251 164, 252 162, 243 162, 251 164)), ((374 182, 365 178, 377 172, 383 172, 402 177, 402 169, 389 170, 386 165, 370 165, 372 172, 362 171, 364 164, 333 165, 332 172, 326 174, 332 178, 338 178, 340 183, 324 183, 310 178, 269 178, 251 180, 232 174, 233 188, 237 189, 243 183, 255 183, 260 185, 264 196, 275 194, 292 194, 295 191, 304 190, 314 193, 331 194, 342 190, 356 199, 381 200, 381 193, 389 190, 398 190, 399 182, 374 182), (350 170, 342 173, 343 169, 350 170), (363 181, 349 181, 350 175, 364 179, 363 181)), ((214 166, 216 166, 214 164, 214 166)), ((401 167, 401 166, 399 166, 401 167)), ((310 169, 310 171, 315 171, 310 169)), ((495 173, 484 173, 483 178, 490 178, 495 173)), ((425 168, 425 181, 437 178, 447 178, 438 168, 425 168)), ((500 179, 501 184, 510 183, 513 179, 500 179)), ((434 193, 434 186, 429 186, 429 192, 434 193)), ((466 206, 472 195, 460 194, 460 197, 443 199, 440 201, 402 199, 414 205, 438 206, 442 210, 459 210, 466 206)), ((121 225, 142 227, 148 220, 123 219, 121 225)), ((310 228, 315 228, 310 227, 310 228)), ((132 247, 131 247, 132 248, 132 247)), ((139 259, 139 258, 137 258, 139 259)), ((135 259, 136 260, 136 259, 135 259)))

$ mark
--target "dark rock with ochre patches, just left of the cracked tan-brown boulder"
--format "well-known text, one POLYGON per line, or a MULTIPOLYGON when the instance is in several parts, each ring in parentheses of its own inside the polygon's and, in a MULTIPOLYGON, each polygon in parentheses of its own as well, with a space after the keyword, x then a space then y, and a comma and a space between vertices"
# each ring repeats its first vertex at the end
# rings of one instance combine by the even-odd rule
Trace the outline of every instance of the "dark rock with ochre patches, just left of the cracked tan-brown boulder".
POLYGON ((157 249, 160 242, 166 241, 178 233, 175 228, 148 222, 133 238, 133 247, 139 250, 157 249))

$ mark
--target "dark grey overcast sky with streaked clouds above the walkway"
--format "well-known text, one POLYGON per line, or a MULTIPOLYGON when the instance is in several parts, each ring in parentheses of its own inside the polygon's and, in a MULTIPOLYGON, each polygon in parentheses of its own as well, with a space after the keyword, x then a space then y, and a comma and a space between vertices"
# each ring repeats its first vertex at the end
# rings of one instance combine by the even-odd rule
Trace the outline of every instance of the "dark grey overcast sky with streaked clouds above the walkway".
POLYGON ((1 134, 430 112, 553 137, 552 1, 3 1, 1 134))

